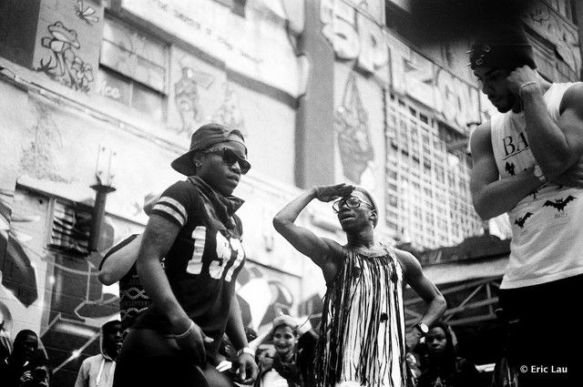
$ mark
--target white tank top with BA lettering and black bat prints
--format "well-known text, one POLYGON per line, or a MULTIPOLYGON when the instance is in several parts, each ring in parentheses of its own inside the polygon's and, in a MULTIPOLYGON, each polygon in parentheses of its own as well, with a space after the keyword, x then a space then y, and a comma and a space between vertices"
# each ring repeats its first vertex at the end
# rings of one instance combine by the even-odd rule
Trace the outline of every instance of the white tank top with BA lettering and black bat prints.
MULTIPOLYGON (((545 93, 548 112, 555 122, 563 95, 573 85, 553 84, 545 93)), ((536 163, 525 127, 524 112, 510 111, 491 119, 492 148, 500 178, 510 178, 536 163)), ((583 273, 583 189, 545 184, 522 199, 508 217, 512 241, 501 289, 583 273)))

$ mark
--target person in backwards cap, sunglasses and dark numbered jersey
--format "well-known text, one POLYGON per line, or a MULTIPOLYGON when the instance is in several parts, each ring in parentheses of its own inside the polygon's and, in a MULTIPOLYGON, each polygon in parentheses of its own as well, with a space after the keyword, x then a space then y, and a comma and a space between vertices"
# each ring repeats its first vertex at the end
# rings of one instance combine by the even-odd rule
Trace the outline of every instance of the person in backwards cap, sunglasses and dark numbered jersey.
POLYGON ((251 382, 258 370, 235 294, 245 251, 235 215, 243 200, 232 193, 251 168, 243 136, 219 124, 199 127, 171 166, 188 178, 150 212, 137 268, 151 306, 124 340, 114 385, 231 385, 215 369, 225 332, 240 381, 251 382))

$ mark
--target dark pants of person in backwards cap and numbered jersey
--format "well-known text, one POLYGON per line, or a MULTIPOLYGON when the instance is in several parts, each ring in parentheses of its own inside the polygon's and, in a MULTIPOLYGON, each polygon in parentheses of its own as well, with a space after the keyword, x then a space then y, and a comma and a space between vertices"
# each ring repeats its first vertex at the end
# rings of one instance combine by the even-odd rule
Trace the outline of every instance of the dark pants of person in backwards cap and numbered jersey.
POLYGON ((176 341, 157 331, 132 329, 124 339, 116 365, 114 387, 231 387, 212 365, 198 366, 176 341))

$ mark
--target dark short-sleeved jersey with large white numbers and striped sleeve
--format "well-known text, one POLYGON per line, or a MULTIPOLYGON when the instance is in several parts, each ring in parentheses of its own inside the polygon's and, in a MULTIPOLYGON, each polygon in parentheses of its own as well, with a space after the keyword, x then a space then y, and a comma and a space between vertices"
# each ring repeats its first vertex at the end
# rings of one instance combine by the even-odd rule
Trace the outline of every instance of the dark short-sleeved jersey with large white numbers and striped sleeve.
MULTIPOLYGON (((242 203, 190 177, 166 189, 150 214, 180 227, 164 261, 166 275, 189 318, 214 339, 207 347, 212 355, 225 331, 235 280, 245 260, 240 219, 234 215, 242 203)), ((140 316, 136 328, 170 333, 166 317, 152 308, 140 316)))

